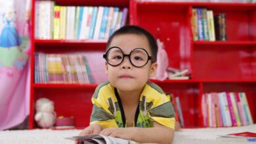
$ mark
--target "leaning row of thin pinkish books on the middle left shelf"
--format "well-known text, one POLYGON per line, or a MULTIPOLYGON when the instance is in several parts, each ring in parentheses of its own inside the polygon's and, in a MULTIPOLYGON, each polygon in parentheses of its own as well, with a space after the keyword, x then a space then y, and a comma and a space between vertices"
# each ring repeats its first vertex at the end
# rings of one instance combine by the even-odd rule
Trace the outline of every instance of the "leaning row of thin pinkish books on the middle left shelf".
POLYGON ((35 53, 35 83, 94 83, 85 56, 75 54, 35 53))

